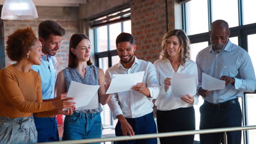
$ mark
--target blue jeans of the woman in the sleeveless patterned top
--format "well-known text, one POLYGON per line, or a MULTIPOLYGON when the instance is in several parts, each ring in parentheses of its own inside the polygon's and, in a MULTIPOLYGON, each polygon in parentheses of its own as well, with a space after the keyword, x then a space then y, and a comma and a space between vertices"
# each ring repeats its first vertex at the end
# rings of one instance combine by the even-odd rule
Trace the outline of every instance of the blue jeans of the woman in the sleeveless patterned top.
MULTIPOLYGON (((66 116, 62 140, 82 140, 100 138, 102 124, 100 113, 78 113, 66 116)), ((100 144, 100 143, 98 143, 100 144)))

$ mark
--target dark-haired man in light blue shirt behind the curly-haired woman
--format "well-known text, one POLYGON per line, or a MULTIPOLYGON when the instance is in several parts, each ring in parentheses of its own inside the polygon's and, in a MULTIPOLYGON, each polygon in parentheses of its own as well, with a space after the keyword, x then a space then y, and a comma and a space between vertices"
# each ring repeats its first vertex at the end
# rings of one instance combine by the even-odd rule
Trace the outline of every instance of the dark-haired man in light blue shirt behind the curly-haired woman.
MULTIPOLYGON (((33 65, 32 69, 40 74, 42 79, 43 101, 55 98, 56 83, 56 52, 60 49, 65 29, 58 23, 50 20, 43 21, 38 27, 39 40, 44 53, 41 65, 33 65)), ((54 112, 53 112, 54 113, 54 112)), ((55 112, 56 114, 56 112, 55 112)), ((34 114, 34 122, 38 132, 38 142, 59 141, 56 117, 34 114)))

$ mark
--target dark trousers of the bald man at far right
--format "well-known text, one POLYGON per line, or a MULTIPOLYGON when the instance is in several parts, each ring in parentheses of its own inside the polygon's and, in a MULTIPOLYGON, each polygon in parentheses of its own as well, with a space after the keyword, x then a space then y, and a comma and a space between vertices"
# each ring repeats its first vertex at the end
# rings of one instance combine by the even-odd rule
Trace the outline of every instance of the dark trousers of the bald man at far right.
MULTIPOLYGON (((203 104, 200 107, 200 129, 241 127, 242 111, 239 103, 225 106, 224 108, 212 107, 203 104)), ((241 131, 226 133, 229 144, 241 144, 241 131)), ((223 133, 201 134, 201 144, 223 143, 223 133)))

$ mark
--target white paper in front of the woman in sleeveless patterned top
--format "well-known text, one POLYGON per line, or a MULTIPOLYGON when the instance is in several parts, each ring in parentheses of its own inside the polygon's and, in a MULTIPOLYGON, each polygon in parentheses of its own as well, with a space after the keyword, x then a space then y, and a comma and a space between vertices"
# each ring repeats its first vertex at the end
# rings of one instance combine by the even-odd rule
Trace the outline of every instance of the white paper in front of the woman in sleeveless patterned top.
POLYGON ((67 97, 74 98, 76 110, 90 110, 98 107, 99 85, 85 85, 83 83, 71 81, 67 97))

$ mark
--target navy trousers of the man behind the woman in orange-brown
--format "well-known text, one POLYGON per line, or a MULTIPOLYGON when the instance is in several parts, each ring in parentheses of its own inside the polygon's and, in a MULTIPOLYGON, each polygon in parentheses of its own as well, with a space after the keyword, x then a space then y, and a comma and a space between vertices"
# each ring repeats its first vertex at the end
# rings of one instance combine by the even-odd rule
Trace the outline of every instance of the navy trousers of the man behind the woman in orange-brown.
POLYGON ((59 141, 56 117, 34 117, 38 133, 38 142, 59 141))

